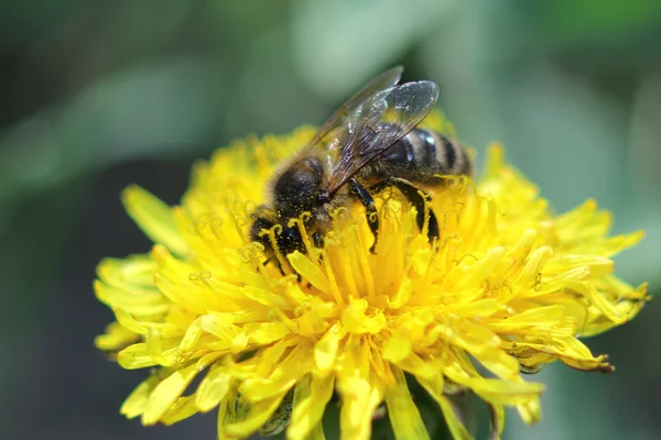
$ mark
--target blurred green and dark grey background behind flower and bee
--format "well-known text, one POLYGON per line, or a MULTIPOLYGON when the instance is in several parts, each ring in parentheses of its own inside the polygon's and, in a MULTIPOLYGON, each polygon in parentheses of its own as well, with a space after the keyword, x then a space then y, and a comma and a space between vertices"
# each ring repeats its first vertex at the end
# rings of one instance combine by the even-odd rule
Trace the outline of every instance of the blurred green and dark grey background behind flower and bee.
MULTIPOLYGON (((321 123, 403 64, 480 157, 491 141, 557 211, 588 197, 616 261, 661 286, 659 0, 3 0, 0 3, 0 437, 213 439, 213 415, 144 429, 118 414, 144 376, 93 346, 112 320, 91 292, 102 256, 144 252, 131 183, 175 204, 194 160, 236 136, 321 123)), ((659 296, 659 295, 657 295, 659 296)), ((615 374, 561 364, 544 420, 506 439, 661 436, 660 301, 594 338, 615 374)))

